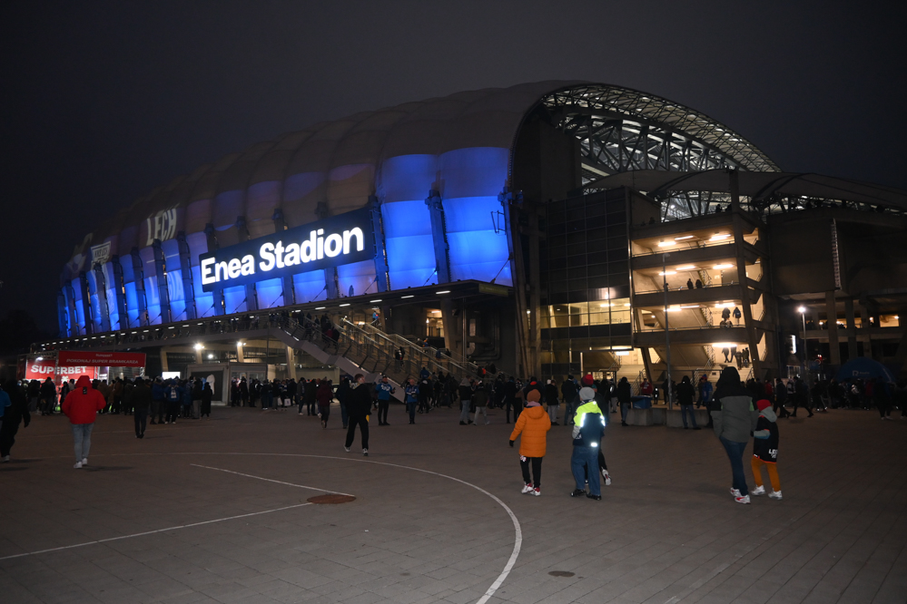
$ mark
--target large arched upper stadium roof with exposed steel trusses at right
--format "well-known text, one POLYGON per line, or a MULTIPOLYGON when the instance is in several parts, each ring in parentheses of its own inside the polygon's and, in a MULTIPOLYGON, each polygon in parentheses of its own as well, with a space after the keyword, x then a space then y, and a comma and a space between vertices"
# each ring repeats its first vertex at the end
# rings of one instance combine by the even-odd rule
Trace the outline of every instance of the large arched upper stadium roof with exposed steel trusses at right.
POLYGON ((135 200, 85 237, 74 257, 110 238, 123 251, 139 245, 140 225, 165 211, 178 212, 186 232, 242 216, 258 236, 256 225, 271 223, 275 208, 288 225, 358 209, 372 194, 381 198, 385 161, 402 155, 509 150, 503 188, 520 126, 540 114, 580 141, 586 182, 640 169, 777 170, 738 133, 654 94, 604 83, 524 83, 360 112, 253 144, 135 200))

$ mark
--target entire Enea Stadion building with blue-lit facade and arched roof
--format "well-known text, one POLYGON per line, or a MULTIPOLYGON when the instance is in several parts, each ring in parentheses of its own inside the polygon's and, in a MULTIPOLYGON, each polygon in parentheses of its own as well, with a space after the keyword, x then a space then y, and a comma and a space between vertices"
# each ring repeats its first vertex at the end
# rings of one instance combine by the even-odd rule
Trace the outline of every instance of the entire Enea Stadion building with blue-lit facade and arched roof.
POLYGON ((456 93, 318 123, 135 200, 74 249, 60 335, 29 362, 94 348, 143 352, 153 374, 398 381, 421 365, 634 383, 857 358, 899 372, 905 209, 903 190, 784 172, 654 94, 456 93), (340 343, 307 334, 322 314, 340 343))

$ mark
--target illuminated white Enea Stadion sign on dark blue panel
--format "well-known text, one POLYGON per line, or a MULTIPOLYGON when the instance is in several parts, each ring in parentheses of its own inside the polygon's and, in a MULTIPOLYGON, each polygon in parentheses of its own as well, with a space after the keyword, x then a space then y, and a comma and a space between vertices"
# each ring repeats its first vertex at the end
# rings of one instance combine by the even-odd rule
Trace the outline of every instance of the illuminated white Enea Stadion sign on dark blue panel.
POLYGON ((199 256, 202 290, 370 260, 374 239, 368 208, 251 239, 199 256))

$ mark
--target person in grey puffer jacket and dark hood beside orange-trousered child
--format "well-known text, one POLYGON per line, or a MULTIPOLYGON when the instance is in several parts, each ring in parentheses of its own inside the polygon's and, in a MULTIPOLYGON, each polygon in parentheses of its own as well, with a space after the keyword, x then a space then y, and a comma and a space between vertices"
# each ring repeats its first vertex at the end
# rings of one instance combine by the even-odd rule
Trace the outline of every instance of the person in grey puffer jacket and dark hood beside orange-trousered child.
POLYGON ((740 383, 740 374, 735 367, 725 367, 718 378, 712 404, 712 422, 715 436, 725 447, 731 462, 731 494, 737 503, 749 503, 749 489, 744 475, 744 451, 755 430, 759 413, 753 404, 753 397, 740 383))

